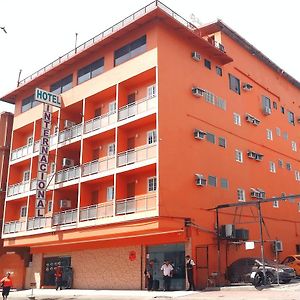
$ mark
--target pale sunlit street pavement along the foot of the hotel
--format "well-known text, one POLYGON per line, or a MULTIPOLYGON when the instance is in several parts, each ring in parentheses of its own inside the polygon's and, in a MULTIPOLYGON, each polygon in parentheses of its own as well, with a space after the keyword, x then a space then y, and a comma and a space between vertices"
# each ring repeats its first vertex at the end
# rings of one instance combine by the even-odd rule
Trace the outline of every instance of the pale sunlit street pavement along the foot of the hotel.
MULTIPOLYGON (((30 299, 32 290, 13 291, 9 300, 30 299)), ((253 286, 210 288, 204 291, 33 290, 35 300, 300 300, 300 281, 256 289, 253 286)), ((33 298, 32 298, 33 299, 33 298)))

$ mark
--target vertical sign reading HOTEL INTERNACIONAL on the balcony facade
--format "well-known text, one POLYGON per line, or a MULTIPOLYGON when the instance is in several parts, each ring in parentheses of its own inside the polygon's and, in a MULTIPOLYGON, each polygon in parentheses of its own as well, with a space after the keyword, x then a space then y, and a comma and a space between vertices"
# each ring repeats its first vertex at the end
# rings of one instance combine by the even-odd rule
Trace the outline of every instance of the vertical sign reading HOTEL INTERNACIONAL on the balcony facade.
POLYGON ((61 99, 60 96, 37 88, 35 90, 35 100, 42 102, 44 105, 41 125, 40 153, 38 160, 35 216, 44 217, 46 207, 47 171, 49 161, 48 156, 51 135, 51 107, 56 106, 60 108, 61 99))

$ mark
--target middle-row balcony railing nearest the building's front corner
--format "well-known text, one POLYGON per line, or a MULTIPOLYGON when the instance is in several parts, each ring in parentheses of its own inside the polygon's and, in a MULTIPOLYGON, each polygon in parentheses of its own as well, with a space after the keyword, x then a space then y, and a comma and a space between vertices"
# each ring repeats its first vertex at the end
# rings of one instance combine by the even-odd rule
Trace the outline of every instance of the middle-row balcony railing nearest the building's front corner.
POLYGON ((130 165, 156 157, 156 144, 150 144, 138 149, 127 150, 118 154, 118 167, 130 165))

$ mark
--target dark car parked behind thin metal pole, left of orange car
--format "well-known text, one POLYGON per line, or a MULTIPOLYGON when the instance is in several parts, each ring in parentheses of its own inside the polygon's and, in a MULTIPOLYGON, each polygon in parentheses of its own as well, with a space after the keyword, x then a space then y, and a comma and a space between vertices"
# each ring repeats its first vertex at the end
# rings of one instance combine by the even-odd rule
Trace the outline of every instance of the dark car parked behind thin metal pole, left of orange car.
MULTIPOLYGON (((277 266, 275 262, 265 260, 266 283, 270 284, 277 281, 277 268, 279 281, 282 283, 288 283, 296 276, 293 268, 281 264, 277 266)), ((249 282, 254 285, 261 285, 263 283, 261 258, 245 257, 236 260, 227 267, 225 277, 231 283, 249 282)))

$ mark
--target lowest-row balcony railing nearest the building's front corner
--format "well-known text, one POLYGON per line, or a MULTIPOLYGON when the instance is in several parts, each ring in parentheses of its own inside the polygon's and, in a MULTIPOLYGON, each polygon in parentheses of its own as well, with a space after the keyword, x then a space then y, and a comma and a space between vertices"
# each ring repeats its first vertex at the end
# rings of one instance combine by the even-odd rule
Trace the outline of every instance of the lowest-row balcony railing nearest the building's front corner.
POLYGON ((126 215, 156 209, 156 193, 116 201, 116 215, 126 215))

